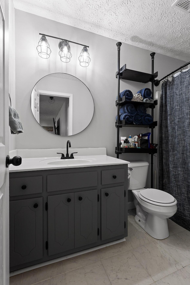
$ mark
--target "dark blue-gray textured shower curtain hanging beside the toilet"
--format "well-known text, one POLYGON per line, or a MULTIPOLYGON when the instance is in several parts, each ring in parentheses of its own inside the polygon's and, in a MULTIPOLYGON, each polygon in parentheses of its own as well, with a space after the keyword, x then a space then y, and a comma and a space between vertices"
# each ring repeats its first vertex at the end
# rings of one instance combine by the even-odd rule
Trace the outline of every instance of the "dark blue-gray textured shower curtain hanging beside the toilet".
POLYGON ((190 230, 190 69, 162 83, 159 189, 178 202, 170 219, 190 230))

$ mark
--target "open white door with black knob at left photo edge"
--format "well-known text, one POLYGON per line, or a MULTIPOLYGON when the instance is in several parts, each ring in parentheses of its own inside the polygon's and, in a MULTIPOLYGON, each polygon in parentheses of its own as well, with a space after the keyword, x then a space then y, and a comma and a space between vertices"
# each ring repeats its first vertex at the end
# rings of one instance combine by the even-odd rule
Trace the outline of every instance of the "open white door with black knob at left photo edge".
POLYGON ((8 1, 0 0, 0 285, 9 284, 8 1))

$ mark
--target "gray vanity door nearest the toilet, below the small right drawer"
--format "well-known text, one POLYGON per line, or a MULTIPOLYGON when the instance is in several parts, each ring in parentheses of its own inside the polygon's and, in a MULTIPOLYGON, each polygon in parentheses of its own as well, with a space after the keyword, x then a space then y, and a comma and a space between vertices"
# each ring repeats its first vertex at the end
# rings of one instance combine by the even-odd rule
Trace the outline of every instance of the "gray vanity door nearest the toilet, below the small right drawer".
POLYGON ((101 189, 102 240, 124 235, 124 186, 101 189))

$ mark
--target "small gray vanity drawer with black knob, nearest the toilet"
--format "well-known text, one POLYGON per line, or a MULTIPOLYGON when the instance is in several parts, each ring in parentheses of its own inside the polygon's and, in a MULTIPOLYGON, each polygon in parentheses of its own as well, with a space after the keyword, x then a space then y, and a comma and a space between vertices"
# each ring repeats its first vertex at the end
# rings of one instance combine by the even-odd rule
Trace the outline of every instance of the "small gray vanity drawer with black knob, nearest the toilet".
POLYGON ((125 169, 102 170, 102 185, 125 181, 125 169))

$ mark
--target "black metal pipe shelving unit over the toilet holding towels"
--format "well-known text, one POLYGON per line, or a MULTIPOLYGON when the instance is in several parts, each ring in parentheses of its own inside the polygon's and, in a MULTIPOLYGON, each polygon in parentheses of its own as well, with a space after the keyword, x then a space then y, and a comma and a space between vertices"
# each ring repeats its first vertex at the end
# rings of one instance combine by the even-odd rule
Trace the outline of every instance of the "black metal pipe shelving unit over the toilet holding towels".
POLYGON ((139 104, 144 104, 146 108, 151 108, 151 115, 153 117, 154 115, 154 108, 158 104, 157 100, 155 100, 153 103, 145 103, 145 102, 133 102, 133 101, 126 101, 125 97, 119 98, 120 93, 120 79, 135 81, 135 82, 141 82, 141 83, 152 83, 152 99, 154 99, 154 82, 155 78, 158 76, 158 72, 154 73, 154 56, 155 53, 151 53, 151 62, 152 62, 152 73, 148 74, 145 72, 135 71, 131 69, 126 69, 126 64, 120 68, 120 47, 121 42, 117 42, 117 48, 118 48, 118 71, 116 72, 116 78, 118 82, 118 91, 117 91, 117 98, 118 100, 115 102, 115 105, 117 106, 117 122, 115 122, 115 127, 117 128, 117 146, 115 148, 115 154, 117 154, 117 158, 119 158, 119 155, 122 153, 148 153, 151 154, 151 188, 153 188, 153 154, 157 153, 156 148, 120 148, 119 147, 119 130, 122 127, 148 127, 151 128, 151 143, 153 144, 153 129, 155 126, 157 126, 157 121, 153 122, 151 125, 135 125, 135 124, 125 124, 125 120, 119 121, 119 107, 123 106, 127 103, 133 104, 134 106, 137 106, 139 104))

